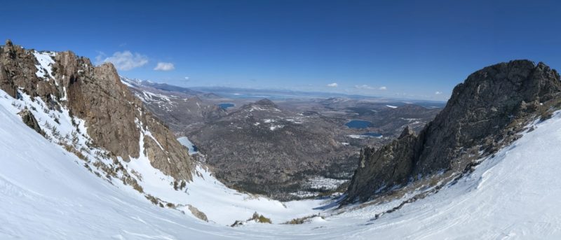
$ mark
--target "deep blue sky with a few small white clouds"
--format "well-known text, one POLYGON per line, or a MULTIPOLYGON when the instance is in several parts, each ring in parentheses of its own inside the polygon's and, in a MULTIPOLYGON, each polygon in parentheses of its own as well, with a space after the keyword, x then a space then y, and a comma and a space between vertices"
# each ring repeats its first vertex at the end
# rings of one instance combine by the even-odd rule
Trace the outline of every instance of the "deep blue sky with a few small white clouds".
POLYGON ((0 38, 185 87, 446 100, 489 64, 532 59, 561 69, 555 1, 20 0, 2 8, 0 38))

